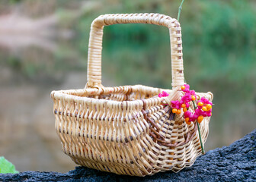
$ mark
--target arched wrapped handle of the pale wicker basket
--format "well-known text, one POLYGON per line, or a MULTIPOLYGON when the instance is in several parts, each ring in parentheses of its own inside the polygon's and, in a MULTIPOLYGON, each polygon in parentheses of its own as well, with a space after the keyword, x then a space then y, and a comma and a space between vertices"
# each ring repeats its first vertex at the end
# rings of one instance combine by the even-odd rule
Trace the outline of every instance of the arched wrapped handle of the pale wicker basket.
POLYGON ((171 39, 171 86, 184 85, 181 27, 178 20, 164 14, 104 14, 91 24, 88 46, 88 70, 85 88, 101 85, 101 50, 103 28, 111 24, 155 24, 168 27, 171 39))

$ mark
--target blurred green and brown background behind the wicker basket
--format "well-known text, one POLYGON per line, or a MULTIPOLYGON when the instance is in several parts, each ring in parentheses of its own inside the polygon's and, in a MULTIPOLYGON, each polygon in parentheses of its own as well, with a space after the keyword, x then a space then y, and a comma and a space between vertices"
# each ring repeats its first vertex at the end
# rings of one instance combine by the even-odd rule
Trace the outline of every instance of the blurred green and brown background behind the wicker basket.
MULTIPOLYGON (((91 21, 100 14, 155 12, 177 17, 177 0, 12 0, 0 3, 0 155, 18 171, 74 168, 54 130, 53 89, 86 83, 91 21)), ((214 94, 206 151, 256 127, 256 2, 185 0, 184 76, 214 94)), ((171 88, 168 29, 104 28, 103 84, 171 88)))

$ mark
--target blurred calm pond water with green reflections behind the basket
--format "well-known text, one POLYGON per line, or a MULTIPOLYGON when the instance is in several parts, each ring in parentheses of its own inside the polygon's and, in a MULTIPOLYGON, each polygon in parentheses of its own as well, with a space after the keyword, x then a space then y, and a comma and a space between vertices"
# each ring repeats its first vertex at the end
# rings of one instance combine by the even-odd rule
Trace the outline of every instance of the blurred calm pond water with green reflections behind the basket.
MULTIPOLYGON (((18 171, 72 170, 75 164, 62 153, 54 130, 50 92, 85 86, 85 52, 70 40, 37 39, 37 45, 21 46, 1 40, 0 155, 18 171)), ((107 40, 103 58, 105 86, 170 88, 168 41, 140 45, 107 40)), ((197 92, 214 94, 206 151, 229 145, 256 127, 255 58, 252 49, 184 46, 187 83, 197 92)))

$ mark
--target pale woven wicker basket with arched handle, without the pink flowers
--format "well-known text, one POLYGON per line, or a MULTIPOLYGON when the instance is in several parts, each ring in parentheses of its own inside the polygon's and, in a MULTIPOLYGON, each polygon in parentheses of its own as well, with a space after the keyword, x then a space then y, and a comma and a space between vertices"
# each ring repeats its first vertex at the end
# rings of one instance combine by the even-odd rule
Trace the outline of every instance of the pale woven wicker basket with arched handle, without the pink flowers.
MULTIPOLYGON (((62 151, 88 168, 134 176, 159 171, 178 172, 193 165, 201 154, 198 130, 193 122, 172 114, 170 103, 181 96, 184 85, 181 27, 162 14, 105 14, 91 24, 88 49, 88 82, 85 89, 53 91, 56 132, 62 151), (110 24, 156 24, 168 27, 171 36, 173 89, 149 86, 101 85, 103 28, 110 24), (159 98, 163 90, 170 96, 159 98)), ((197 93, 197 99, 213 99, 197 93)), ((193 105, 190 105, 193 109, 193 105)), ((209 118, 200 123, 203 143, 209 118)))

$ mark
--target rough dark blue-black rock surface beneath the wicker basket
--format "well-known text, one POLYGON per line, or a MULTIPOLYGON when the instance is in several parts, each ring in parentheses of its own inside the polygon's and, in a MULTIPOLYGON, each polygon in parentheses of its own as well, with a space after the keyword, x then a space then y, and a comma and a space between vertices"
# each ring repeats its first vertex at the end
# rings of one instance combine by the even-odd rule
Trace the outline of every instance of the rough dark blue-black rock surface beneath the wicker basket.
POLYGON ((242 139, 201 155, 178 174, 167 171, 148 177, 130 177, 76 167, 66 174, 26 171, 0 174, 0 181, 256 181, 256 130, 242 139))

